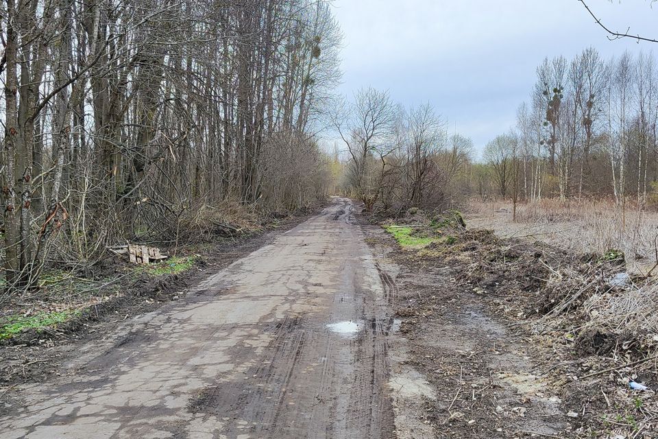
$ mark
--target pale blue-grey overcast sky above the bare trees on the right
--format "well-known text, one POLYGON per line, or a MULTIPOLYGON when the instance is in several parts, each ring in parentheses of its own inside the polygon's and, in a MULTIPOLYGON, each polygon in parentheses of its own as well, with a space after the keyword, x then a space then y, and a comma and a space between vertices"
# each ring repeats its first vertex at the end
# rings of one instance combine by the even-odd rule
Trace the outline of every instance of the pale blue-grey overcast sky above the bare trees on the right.
MULTIPOLYGON (((658 38, 658 3, 589 0, 609 28, 658 38)), ((535 68, 592 45, 605 57, 658 44, 609 41, 578 0, 334 0, 343 29, 343 85, 388 89, 411 105, 430 102, 481 150, 515 124, 535 68)))

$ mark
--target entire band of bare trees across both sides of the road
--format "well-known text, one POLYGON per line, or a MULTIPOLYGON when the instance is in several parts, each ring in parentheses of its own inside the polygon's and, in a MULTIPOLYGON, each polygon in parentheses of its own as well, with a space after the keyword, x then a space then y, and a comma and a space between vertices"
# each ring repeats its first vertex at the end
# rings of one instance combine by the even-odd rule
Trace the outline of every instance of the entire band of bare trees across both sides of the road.
POLYGON ((10 288, 123 241, 196 239, 227 209, 289 212, 329 193, 392 215, 464 198, 658 202, 650 53, 546 58, 516 125, 475 147, 449 109, 374 88, 339 97, 328 3, 26 4, 3 15, 10 288))

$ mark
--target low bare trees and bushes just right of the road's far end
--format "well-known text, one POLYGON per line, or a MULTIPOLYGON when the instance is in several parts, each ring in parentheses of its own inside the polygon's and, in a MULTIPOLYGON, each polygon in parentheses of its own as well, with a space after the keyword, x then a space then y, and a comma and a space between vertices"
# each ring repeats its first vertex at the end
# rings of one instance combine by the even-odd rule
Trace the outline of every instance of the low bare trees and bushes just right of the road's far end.
POLYGON ((448 132, 429 104, 406 111, 389 93, 367 88, 334 115, 346 151, 343 191, 367 211, 441 209, 467 188, 472 141, 448 132))

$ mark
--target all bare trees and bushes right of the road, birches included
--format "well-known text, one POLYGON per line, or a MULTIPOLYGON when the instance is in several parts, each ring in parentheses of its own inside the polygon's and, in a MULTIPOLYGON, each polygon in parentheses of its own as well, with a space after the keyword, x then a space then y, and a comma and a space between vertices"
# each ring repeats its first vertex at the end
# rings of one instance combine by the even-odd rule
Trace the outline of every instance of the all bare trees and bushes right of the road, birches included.
POLYGON ((366 206, 378 202, 400 211, 445 208, 464 195, 482 201, 611 199, 655 209, 653 54, 626 52, 605 60, 589 47, 571 60, 546 58, 536 76, 515 126, 501 127, 481 157, 429 105, 407 115, 386 92, 356 93, 351 118, 341 118, 357 127, 342 137, 350 153, 344 187, 366 206))

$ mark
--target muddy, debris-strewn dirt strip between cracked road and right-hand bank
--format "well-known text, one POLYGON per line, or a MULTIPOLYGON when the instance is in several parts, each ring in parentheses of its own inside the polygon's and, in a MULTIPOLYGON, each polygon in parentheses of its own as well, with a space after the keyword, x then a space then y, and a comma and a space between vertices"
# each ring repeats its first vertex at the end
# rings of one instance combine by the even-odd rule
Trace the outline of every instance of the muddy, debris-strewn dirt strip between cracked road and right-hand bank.
POLYGON ((460 267, 400 250, 365 226, 379 265, 395 276, 401 337, 391 345, 400 438, 570 437, 562 401, 537 372, 533 346, 488 297, 465 290, 460 267))

